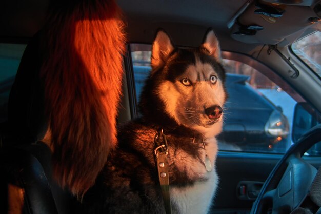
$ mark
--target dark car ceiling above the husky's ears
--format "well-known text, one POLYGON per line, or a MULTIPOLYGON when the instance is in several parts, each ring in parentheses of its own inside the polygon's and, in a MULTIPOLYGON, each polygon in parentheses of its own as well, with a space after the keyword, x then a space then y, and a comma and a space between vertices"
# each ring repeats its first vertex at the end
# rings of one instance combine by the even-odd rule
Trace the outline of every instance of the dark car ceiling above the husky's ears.
MULTIPOLYGON (((266 21, 255 14, 258 9, 255 1, 233 0, 118 0, 123 9, 130 42, 151 43, 158 28, 165 29, 179 46, 198 46, 208 28, 213 28, 218 35, 222 49, 250 53, 263 44, 287 46, 298 37, 304 36, 308 28, 320 28, 318 22, 309 18, 319 17, 315 8, 320 8, 316 0, 267 0, 260 4, 285 10, 275 23, 266 21), (270 2, 270 3, 269 3, 270 2), (287 4, 280 4, 286 2, 287 4), (244 5, 246 10, 238 16, 242 25, 260 25, 263 30, 255 35, 234 35, 239 31, 239 24, 230 28, 229 21, 244 5), (315 12, 316 11, 316 12, 315 12)), ((30 38, 45 23, 48 1, 43 0, 4 0, 0 7, 0 38, 10 41, 30 38)), ((320 13, 318 12, 320 15, 320 13)))

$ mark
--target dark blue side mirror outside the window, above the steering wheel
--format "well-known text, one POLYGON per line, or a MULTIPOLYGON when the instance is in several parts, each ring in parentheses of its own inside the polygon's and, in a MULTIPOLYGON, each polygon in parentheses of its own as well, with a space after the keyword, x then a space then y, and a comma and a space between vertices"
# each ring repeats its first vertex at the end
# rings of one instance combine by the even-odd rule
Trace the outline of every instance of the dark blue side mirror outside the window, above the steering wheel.
POLYGON ((305 132, 319 123, 321 123, 321 114, 318 111, 308 103, 297 103, 293 115, 292 141, 298 142, 305 132))

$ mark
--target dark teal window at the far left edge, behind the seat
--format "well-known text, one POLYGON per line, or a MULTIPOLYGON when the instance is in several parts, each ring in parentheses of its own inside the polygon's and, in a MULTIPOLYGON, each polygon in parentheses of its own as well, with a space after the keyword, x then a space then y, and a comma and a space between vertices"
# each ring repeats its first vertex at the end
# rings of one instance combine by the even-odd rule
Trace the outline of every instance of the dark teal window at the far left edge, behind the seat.
POLYGON ((0 43, 0 123, 8 119, 8 99, 26 45, 0 43))

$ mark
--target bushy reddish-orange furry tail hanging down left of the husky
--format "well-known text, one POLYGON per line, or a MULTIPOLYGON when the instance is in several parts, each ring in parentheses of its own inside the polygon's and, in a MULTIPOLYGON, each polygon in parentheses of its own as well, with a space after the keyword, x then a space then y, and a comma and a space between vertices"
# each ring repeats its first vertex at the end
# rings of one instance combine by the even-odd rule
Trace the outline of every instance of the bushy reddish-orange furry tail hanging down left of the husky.
POLYGON ((116 145, 125 50, 115 2, 81 2, 51 18, 41 69, 54 177, 78 195, 94 184, 116 145))

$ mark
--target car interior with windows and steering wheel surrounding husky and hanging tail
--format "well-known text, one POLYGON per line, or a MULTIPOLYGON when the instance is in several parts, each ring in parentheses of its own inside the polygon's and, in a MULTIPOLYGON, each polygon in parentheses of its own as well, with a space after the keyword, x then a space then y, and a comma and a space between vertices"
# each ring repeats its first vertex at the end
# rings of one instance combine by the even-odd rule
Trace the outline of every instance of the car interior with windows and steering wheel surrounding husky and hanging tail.
MULTIPOLYGON (((37 32, 53 2, 0 3, 1 213, 81 211, 81 200, 53 179, 50 148, 39 141, 48 124, 37 32)), ((187 48, 212 28, 235 101, 219 137, 219 186, 209 213, 321 213, 321 1, 116 2, 128 40, 118 124, 139 116, 157 30, 187 48), (300 49, 307 44, 314 61, 300 49)))

